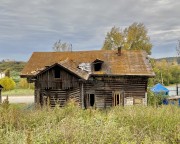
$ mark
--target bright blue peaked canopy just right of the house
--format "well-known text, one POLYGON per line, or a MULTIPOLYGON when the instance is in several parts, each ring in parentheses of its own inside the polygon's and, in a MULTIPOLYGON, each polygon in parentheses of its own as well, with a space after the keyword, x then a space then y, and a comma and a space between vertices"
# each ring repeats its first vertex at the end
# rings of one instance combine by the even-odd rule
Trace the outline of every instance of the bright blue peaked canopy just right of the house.
POLYGON ((153 86, 151 88, 151 91, 154 92, 155 94, 169 95, 169 90, 160 83, 153 86))

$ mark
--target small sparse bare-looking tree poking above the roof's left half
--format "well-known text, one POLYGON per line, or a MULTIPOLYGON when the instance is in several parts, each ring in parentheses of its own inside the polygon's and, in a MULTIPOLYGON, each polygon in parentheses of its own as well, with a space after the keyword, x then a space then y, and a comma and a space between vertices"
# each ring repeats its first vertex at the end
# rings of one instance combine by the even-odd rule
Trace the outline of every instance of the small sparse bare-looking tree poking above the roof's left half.
POLYGON ((61 40, 59 40, 54 43, 53 50, 56 52, 72 51, 72 44, 68 44, 66 42, 61 42, 61 40))

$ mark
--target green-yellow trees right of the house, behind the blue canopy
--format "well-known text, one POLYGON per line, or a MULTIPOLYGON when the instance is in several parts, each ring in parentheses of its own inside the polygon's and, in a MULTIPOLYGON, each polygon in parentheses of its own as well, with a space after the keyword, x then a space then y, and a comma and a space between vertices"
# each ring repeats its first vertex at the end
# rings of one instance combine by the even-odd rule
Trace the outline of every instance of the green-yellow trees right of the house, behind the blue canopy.
POLYGON ((166 86, 180 83, 180 65, 176 60, 167 61, 166 59, 151 59, 151 65, 156 76, 149 80, 150 86, 157 83, 161 83, 166 86))

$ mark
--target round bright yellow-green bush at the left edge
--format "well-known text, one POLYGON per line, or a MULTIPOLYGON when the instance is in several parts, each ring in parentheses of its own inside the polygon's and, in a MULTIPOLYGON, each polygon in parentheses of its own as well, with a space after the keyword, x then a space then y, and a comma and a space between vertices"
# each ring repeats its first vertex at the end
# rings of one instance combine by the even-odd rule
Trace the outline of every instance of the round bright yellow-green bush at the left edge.
POLYGON ((0 79, 0 84, 3 86, 4 91, 12 90, 16 86, 16 83, 13 81, 13 79, 9 77, 0 79))

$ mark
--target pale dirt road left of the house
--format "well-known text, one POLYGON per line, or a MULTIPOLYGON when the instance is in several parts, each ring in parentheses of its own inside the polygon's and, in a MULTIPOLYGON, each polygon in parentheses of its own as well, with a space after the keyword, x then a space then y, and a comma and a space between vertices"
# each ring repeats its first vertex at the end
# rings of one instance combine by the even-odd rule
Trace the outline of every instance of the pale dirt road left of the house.
MULTIPOLYGON (((6 96, 2 96, 2 101, 6 98, 6 96)), ((34 96, 9 96, 10 103, 33 103, 34 96)))

